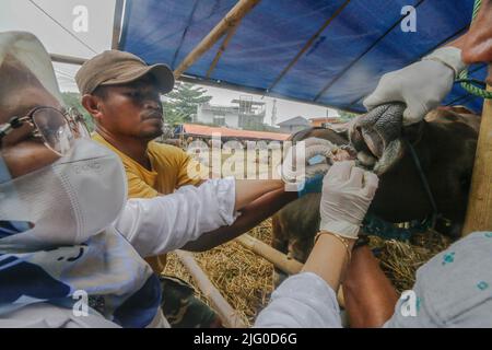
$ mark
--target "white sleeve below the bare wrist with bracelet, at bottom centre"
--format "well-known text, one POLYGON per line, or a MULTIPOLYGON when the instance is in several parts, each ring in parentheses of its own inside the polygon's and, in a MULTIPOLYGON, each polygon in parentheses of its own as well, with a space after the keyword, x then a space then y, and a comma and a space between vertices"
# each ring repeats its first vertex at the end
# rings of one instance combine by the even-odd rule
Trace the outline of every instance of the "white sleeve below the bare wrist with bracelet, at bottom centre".
POLYGON ((291 276, 272 293, 255 327, 340 328, 337 295, 316 273, 291 276))

